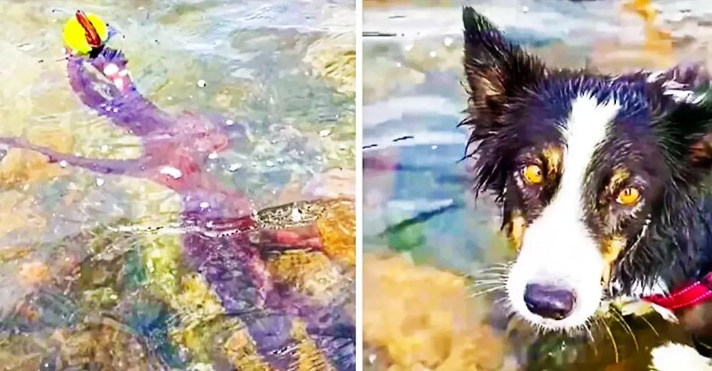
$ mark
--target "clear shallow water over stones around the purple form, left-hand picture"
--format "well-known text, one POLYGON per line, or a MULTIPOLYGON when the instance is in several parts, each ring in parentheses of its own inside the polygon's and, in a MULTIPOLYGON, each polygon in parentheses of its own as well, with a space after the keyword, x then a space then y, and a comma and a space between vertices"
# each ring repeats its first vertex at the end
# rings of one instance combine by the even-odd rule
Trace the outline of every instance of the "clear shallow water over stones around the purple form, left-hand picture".
MULTIPOLYGON (((85 107, 68 84, 61 29, 83 9, 118 31, 109 46, 123 50, 148 100, 224 125, 234 141, 200 158, 216 186, 244 193, 254 210, 352 197, 352 2, 4 1, 2 9, 0 136, 87 158, 145 151, 139 136, 85 107)), ((294 326, 294 341, 282 343, 243 331, 251 320, 227 311, 216 294, 216 274, 236 270, 238 261, 209 266, 216 271, 195 267, 180 192, 48 163, 34 151, 4 146, 1 154, 4 369, 251 370, 260 353, 277 350, 311 365, 326 357, 322 340, 300 338, 294 326)), ((266 251, 264 269, 352 313, 352 203, 314 205, 302 224, 320 234, 329 254, 266 251), (311 268, 296 271, 295 262, 311 268)), ((266 214, 269 228, 285 227, 278 216, 266 214)), ((231 246, 204 246, 221 252, 223 244, 231 246)))

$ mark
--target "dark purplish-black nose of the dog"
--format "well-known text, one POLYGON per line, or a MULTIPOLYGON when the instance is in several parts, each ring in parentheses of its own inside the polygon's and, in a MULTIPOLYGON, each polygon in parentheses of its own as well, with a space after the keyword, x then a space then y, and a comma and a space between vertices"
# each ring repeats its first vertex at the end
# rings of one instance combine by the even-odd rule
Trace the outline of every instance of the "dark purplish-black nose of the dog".
POLYGON ((571 313, 576 296, 572 291, 560 287, 528 284, 524 290, 524 303, 534 314, 560 320, 571 313))

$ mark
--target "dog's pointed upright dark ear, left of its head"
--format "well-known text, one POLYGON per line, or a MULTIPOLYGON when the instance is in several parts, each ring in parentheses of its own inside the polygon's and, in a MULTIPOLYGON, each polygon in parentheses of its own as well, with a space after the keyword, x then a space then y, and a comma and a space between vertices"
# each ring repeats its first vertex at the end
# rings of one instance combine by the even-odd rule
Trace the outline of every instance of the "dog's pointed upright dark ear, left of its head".
POLYGON ((470 93, 470 114, 481 124, 498 121, 508 100, 532 87, 546 70, 537 58, 509 43, 487 18, 463 9, 464 67, 470 93))

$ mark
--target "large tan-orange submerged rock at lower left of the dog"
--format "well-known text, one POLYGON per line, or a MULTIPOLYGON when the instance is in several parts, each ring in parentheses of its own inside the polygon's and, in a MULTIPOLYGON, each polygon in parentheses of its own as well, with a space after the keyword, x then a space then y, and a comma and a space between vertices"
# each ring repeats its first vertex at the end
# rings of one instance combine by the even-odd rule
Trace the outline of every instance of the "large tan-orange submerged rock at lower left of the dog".
POLYGON ((466 280, 365 254, 363 331, 372 370, 503 370, 505 345, 474 316, 466 280), (428 303, 428 305, 423 305, 428 303))

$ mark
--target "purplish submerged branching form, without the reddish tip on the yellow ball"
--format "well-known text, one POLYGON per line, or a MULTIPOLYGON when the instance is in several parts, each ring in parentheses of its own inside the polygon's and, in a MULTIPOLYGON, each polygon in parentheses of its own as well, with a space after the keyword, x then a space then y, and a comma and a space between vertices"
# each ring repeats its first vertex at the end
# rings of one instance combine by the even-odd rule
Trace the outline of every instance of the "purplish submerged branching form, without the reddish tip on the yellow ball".
POLYGON ((0 143, 38 151, 51 162, 101 174, 147 178, 182 197, 184 257, 221 299, 227 315, 239 316, 259 353, 278 370, 297 360, 290 326, 301 318, 307 333, 337 370, 355 370, 355 326, 345 308, 321 306, 272 279, 258 245, 248 199, 224 188, 204 171, 209 154, 226 149, 230 133, 222 125, 188 112, 164 112, 137 91, 124 55, 111 48, 95 58, 70 55, 70 85, 80 100, 113 124, 139 136, 140 158, 107 160, 60 154, 17 138, 0 143))

